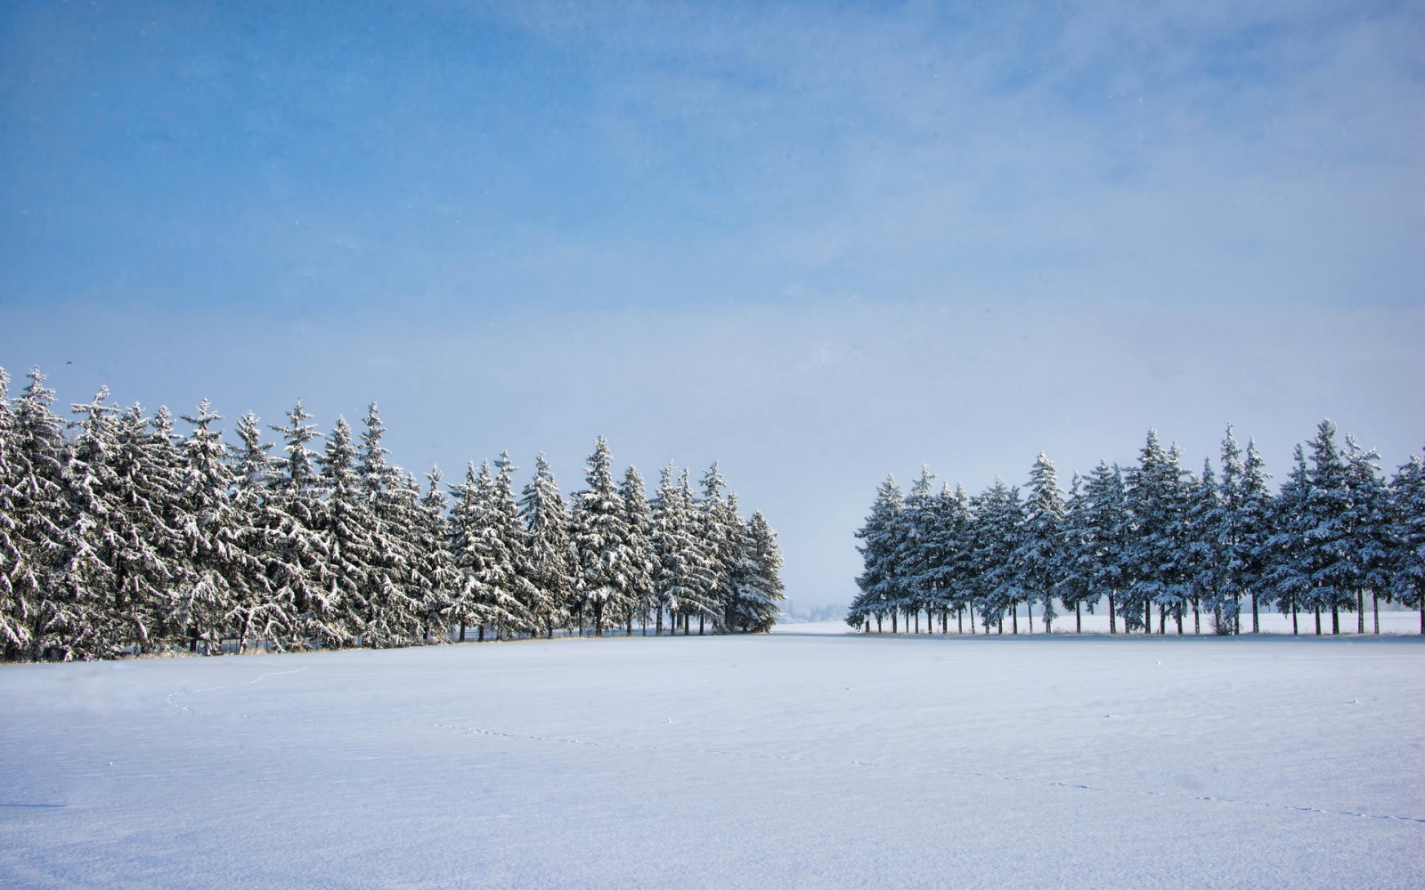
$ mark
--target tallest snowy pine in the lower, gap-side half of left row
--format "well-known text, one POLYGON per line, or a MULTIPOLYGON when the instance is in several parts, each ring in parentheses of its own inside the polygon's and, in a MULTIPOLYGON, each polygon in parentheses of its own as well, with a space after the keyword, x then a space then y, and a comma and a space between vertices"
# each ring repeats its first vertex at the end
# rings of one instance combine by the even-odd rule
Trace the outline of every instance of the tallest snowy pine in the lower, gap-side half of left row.
MULTIPOLYGON (((579 611, 594 621, 603 637, 604 619, 623 609, 628 595, 628 551, 624 545, 624 504, 614 486, 613 459, 603 436, 584 464, 587 488, 574 494, 573 544, 579 558, 579 611)), ((583 621, 580 621, 583 624, 583 621)))

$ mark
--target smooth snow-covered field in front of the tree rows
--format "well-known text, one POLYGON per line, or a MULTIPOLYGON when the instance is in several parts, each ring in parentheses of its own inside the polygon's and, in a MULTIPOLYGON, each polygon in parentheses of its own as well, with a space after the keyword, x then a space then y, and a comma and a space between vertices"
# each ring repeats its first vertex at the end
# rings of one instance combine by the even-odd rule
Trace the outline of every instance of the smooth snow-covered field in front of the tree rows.
POLYGON ((1421 886, 1418 638, 834 628, 7 665, 0 886, 1421 886))

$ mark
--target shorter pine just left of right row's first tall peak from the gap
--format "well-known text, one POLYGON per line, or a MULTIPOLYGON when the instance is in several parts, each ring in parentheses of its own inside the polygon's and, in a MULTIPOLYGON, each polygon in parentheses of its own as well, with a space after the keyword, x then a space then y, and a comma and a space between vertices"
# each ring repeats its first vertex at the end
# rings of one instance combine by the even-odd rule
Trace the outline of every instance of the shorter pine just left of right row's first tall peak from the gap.
POLYGON ((970 498, 970 511, 975 515, 975 600, 985 632, 998 625, 1003 634, 1007 614, 1012 632, 1017 634, 1017 607, 1027 592, 1015 571, 1013 560, 1025 527, 1025 506, 1019 498, 1019 488, 1009 487, 996 477, 993 486, 970 498))

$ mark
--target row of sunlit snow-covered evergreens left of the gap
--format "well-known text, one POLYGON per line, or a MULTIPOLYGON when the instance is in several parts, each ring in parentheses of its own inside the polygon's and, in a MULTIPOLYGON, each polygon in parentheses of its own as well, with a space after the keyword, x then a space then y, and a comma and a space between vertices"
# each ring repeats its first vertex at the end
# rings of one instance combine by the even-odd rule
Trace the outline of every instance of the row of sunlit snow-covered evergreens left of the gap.
POLYGON ((594 446, 566 501, 542 454, 516 494, 509 454, 425 487, 388 461, 372 404, 325 437, 301 402, 235 446, 207 402, 175 431, 165 410, 108 390, 66 423, 34 370, 9 397, 0 369, 0 646, 6 659, 162 649, 402 646, 556 628, 757 632, 782 598, 777 535, 742 520, 714 464, 694 494, 614 477, 594 446), (667 621, 667 625, 665 625, 667 621))

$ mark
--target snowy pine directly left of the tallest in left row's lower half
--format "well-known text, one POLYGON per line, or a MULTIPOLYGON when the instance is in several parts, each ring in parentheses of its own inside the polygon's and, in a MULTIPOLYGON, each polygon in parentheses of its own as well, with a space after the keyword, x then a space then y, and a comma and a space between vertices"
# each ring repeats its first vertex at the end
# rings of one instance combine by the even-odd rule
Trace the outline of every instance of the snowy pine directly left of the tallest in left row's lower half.
POLYGON ((523 574, 533 587, 532 612, 546 637, 569 619, 576 591, 576 564, 569 538, 569 508, 544 453, 534 459, 534 478, 519 503, 524 524, 523 574))

